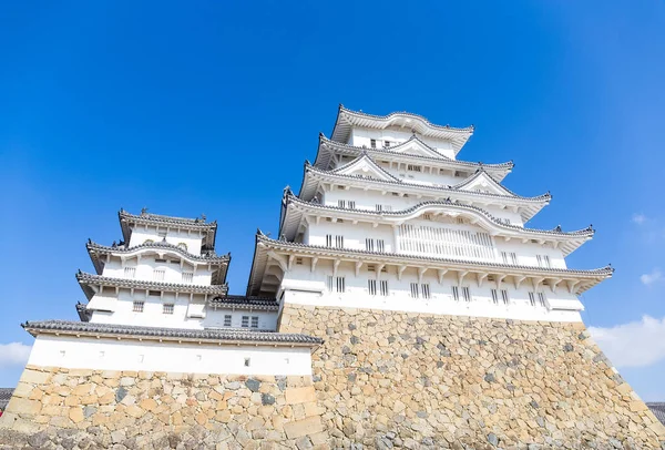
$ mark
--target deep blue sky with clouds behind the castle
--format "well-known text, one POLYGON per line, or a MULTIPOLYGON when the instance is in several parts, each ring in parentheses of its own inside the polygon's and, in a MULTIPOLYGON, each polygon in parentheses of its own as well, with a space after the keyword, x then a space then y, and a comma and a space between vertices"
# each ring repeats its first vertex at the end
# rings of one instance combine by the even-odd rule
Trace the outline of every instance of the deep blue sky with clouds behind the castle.
POLYGON ((0 6, 0 386, 27 319, 75 319, 88 237, 117 209, 219 222, 231 292, 254 234, 277 231, 337 105, 410 111, 475 134, 459 157, 513 160, 546 191, 531 223, 612 263, 584 320, 646 400, 665 400, 665 3, 3 2, 0 6), (233 4, 236 3, 236 4, 233 4))

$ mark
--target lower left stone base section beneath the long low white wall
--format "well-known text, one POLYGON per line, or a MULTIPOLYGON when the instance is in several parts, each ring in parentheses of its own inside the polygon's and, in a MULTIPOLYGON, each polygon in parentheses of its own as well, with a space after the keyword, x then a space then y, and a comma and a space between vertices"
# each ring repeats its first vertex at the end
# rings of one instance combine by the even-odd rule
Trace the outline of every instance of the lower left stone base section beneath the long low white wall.
POLYGON ((320 412, 311 377, 29 366, 0 418, 0 448, 313 448, 328 442, 320 412))

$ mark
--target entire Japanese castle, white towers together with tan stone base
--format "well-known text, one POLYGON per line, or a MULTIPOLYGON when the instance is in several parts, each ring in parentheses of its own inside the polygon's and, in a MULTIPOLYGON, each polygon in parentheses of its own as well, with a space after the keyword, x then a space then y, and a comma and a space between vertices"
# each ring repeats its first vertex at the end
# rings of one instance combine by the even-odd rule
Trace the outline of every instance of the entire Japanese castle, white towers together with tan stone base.
POLYGON ((340 106, 245 296, 215 222, 121 211, 81 320, 23 324, 0 448, 665 449, 580 316, 594 231, 529 227, 550 194, 458 160, 472 133, 340 106))

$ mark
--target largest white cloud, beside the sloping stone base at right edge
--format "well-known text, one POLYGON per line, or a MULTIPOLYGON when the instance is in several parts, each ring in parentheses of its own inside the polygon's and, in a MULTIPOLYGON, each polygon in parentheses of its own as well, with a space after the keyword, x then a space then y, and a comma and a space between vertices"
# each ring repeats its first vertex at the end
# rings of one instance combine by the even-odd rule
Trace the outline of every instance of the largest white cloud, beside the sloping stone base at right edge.
POLYGON ((589 327, 589 333, 616 367, 646 367, 665 359, 665 317, 643 316, 612 328, 589 327))

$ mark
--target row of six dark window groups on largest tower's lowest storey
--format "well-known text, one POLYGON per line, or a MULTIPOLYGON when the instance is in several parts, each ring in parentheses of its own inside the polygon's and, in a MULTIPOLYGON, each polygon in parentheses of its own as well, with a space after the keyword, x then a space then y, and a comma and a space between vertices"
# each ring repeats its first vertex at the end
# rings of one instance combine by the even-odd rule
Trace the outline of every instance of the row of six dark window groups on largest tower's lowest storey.
MULTIPOLYGON (((346 292, 346 277, 332 277, 328 276, 327 279, 328 292, 342 294, 346 292)), ((429 283, 411 283, 411 298, 431 298, 431 289, 429 283)), ((367 289, 369 295, 380 295, 382 297, 387 297, 389 295, 388 290, 388 280, 387 279, 368 279, 367 280, 367 289), (378 287, 378 290, 377 290, 378 287)), ((471 301, 471 288, 469 286, 452 286, 451 287, 452 299, 456 301, 464 300, 471 301)), ((508 289, 491 289, 492 303, 499 305, 499 303, 503 303, 504 305, 510 304, 510 295, 508 289)), ((544 293, 529 293, 529 303, 531 306, 538 305, 545 306, 545 294, 544 293)))

